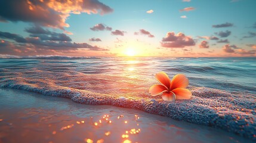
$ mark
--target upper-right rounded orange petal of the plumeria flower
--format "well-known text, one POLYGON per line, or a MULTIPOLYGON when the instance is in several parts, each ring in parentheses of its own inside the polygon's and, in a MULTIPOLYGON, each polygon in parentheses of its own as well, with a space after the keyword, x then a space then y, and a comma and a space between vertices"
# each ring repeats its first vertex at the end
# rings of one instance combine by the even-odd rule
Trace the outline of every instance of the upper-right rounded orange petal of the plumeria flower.
POLYGON ((177 74, 171 80, 170 90, 175 88, 186 88, 189 85, 189 79, 184 74, 177 74))

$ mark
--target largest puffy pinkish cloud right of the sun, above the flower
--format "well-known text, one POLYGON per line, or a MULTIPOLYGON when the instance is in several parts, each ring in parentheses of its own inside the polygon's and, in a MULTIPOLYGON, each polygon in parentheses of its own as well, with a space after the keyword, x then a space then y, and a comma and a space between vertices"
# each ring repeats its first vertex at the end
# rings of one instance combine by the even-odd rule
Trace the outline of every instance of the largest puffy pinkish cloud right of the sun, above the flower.
POLYGON ((195 41, 183 33, 168 32, 162 39, 161 45, 166 48, 184 48, 185 46, 194 46, 195 41))

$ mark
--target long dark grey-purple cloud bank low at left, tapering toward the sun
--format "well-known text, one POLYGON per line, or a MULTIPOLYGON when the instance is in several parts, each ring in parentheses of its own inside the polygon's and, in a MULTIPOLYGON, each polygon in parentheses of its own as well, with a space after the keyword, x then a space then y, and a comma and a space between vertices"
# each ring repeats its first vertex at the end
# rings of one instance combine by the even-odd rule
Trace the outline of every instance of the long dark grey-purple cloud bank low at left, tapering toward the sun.
MULTIPOLYGON (((52 35, 54 32, 50 32, 48 30, 35 30, 35 29, 26 29, 27 31, 33 33, 32 35, 40 35, 40 37, 27 37, 23 38, 23 36, 16 35, 13 33, 8 32, 1 32, 0 31, 0 38, 5 40, 1 40, 0 44, 0 53, 8 54, 11 52, 18 52, 18 53, 27 53, 33 54, 35 51, 40 51, 42 53, 53 53, 53 51, 68 51, 68 50, 76 50, 76 49, 88 49, 90 51, 108 51, 109 49, 100 48, 98 46, 92 46, 88 43, 76 43, 70 42, 72 41, 63 41, 63 39, 54 39, 49 35, 52 35), (43 33, 43 34, 42 34, 43 33), (42 36, 44 35, 44 36, 42 36), (48 38, 45 38, 47 37, 48 38), (11 40, 14 42, 7 41, 11 40), (2 48, 4 48, 2 50, 2 48)), ((61 33, 54 33, 54 35, 61 35, 61 33)))

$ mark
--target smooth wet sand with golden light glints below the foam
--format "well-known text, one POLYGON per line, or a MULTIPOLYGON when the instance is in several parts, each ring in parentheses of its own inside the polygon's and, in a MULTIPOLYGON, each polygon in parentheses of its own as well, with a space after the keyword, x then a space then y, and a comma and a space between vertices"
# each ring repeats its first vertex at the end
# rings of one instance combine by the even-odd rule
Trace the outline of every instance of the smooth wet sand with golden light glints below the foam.
POLYGON ((252 142, 140 110, 0 89, 0 142, 252 142))

